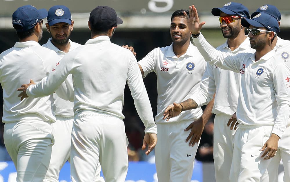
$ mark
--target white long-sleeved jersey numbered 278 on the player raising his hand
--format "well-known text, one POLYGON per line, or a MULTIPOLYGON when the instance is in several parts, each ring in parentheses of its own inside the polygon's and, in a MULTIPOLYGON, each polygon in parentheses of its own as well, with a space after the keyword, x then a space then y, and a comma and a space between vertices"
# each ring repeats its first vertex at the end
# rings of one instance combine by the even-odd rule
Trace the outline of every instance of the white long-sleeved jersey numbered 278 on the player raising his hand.
POLYGON ((270 51, 255 62, 255 53, 231 54, 215 50, 200 35, 193 38, 205 60, 241 74, 237 119, 241 125, 274 125, 279 137, 290 113, 290 72, 282 59, 270 51), (281 106, 278 109, 278 105, 281 106))

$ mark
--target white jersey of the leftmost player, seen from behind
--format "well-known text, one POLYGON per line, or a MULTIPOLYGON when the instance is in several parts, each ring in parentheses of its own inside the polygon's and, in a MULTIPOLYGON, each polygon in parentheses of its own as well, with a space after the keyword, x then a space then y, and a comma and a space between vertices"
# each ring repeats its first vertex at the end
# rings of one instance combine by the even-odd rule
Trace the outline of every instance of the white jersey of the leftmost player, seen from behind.
POLYGON ((3 89, 4 123, 22 120, 42 120, 55 122, 52 113, 51 97, 25 98, 17 97, 21 92, 16 89, 32 79, 40 81, 51 72, 53 65, 59 62, 57 54, 38 42, 16 42, 14 47, 0 55, 0 81, 3 89))

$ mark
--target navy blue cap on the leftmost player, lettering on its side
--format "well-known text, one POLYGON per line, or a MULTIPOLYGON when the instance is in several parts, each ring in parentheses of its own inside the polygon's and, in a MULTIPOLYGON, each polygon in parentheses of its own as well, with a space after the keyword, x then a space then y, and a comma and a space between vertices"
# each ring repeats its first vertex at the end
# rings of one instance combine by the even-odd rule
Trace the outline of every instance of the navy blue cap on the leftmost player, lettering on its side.
POLYGON ((17 27, 16 31, 22 32, 32 29, 41 19, 46 18, 47 10, 37 10, 32 5, 25 5, 17 8, 12 14, 12 25, 20 25, 20 29, 17 27))

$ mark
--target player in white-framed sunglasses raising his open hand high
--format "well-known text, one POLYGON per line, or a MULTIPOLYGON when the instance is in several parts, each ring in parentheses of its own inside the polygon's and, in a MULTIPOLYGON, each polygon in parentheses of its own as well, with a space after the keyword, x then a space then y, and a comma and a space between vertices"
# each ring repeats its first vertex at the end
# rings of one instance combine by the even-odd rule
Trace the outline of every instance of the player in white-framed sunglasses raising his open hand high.
POLYGON ((287 86, 290 71, 271 47, 280 31, 278 22, 267 13, 243 18, 241 24, 249 27, 251 48, 256 52, 231 54, 217 51, 206 42, 200 34, 205 22, 200 23, 194 5, 189 12, 188 24, 195 35, 193 42, 205 60, 222 69, 238 73, 242 70, 236 112, 239 129, 234 137, 230 180, 261 181, 275 156, 290 114, 287 86))

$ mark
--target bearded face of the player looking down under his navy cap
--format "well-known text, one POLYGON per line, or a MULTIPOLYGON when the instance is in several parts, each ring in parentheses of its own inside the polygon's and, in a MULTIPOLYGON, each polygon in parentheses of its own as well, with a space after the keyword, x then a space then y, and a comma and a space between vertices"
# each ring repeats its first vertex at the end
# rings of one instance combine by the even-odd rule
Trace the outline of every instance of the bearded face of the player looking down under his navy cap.
POLYGON ((49 26, 48 23, 46 23, 46 28, 51 34, 53 43, 60 45, 67 44, 70 34, 73 31, 73 21, 71 25, 68 23, 56 23, 49 26))

